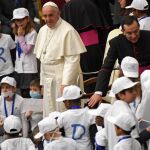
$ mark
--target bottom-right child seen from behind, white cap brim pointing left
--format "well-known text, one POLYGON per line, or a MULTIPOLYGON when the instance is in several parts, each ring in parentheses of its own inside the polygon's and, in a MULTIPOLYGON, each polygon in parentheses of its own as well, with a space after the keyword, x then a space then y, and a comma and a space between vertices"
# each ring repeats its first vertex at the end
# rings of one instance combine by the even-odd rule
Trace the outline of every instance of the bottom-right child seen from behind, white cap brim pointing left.
POLYGON ((118 143, 113 150, 141 150, 140 143, 131 137, 130 133, 136 126, 136 119, 129 113, 108 116, 108 121, 115 125, 118 143))

